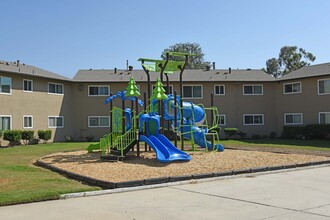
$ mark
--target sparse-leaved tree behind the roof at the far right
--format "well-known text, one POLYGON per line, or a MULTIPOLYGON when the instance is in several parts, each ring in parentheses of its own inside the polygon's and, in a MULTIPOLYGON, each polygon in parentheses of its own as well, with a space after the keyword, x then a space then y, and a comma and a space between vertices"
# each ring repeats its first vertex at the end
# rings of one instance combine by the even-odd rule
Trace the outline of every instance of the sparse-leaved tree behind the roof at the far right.
POLYGON ((271 58, 266 61, 266 72, 278 77, 292 71, 298 70, 304 66, 309 66, 316 57, 297 46, 284 46, 280 50, 278 58, 271 58))

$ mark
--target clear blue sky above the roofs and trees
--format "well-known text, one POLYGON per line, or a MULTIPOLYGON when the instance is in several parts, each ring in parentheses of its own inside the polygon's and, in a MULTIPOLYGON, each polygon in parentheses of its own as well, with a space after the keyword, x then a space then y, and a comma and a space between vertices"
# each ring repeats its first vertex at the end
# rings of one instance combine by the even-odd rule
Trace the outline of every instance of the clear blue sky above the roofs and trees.
POLYGON ((265 67, 285 45, 330 62, 328 0, 0 0, 0 60, 67 77, 79 69, 140 69, 180 42, 221 68, 265 67))

